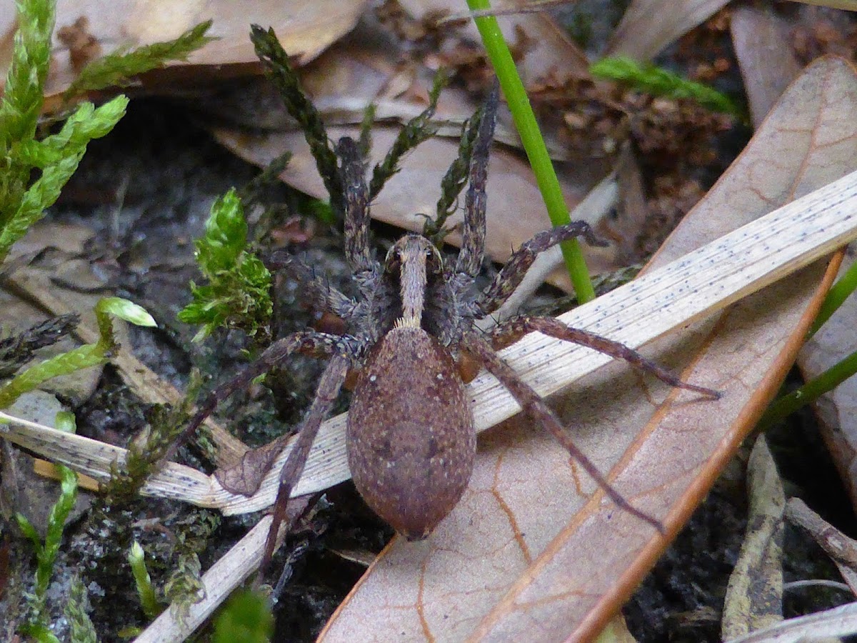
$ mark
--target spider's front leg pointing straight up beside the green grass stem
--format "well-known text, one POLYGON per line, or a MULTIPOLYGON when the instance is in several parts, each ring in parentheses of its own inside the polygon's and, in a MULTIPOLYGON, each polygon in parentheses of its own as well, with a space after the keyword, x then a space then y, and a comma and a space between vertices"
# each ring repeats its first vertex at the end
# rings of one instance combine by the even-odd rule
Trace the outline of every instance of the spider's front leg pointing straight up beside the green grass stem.
POLYGON ((488 182, 488 152, 494 139, 494 123, 497 120, 497 104, 500 100, 500 87, 494 81, 494 87, 485 101, 485 111, 476 140, 473 142, 473 154, 470 158, 467 195, 464 198, 464 231, 462 231, 461 249, 455 261, 455 272, 476 277, 482 270, 485 256, 485 208, 488 197, 485 186, 488 182))

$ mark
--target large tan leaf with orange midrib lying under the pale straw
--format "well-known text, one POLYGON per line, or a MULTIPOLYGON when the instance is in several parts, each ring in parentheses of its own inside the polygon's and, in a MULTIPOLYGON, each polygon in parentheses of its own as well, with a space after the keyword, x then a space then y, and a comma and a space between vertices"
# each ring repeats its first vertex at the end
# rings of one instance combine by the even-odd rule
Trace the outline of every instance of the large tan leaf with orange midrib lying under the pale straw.
MULTIPOLYGON (((857 76, 806 70, 652 261, 661 266, 857 165, 857 76)), ((674 534, 713 484, 794 360, 824 290, 817 264, 646 352, 692 364, 719 402, 653 385, 620 364, 556 400, 582 448, 636 507, 674 534), (821 284, 821 285, 819 285, 821 284)), ((680 289, 680 285, 676 285, 680 289)), ((523 418, 488 431, 462 502, 428 541, 395 540, 323 640, 588 640, 667 546, 604 502, 567 454, 523 418)))

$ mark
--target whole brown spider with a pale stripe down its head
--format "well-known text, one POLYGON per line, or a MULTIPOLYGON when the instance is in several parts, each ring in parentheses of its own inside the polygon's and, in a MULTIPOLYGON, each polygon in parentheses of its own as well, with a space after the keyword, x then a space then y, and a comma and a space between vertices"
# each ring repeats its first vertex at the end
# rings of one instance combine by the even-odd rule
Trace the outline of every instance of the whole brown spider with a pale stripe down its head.
MULTIPOLYGON (((383 262, 375 259, 369 243, 369 189, 363 154, 351 138, 339 141, 335 152, 345 201, 345 257, 357 286, 357 299, 327 285, 291 257, 273 263, 301 279, 316 302, 345 321, 348 332, 307 330, 276 341, 255 364, 215 391, 186 430, 186 434, 195 430, 218 400, 245 387, 292 352, 330 360, 280 473, 262 574, 273 556, 291 490, 350 371, 357 373, 357 385, 347 424, 348 463, 357 490, 369 507, 411 540, 428 536, 452 511, 470 480, 476 456, 473 415, 459 375, 459 365, 466 358, 475 359, 494 375, 524 412, 554 435, 617 506, 662 530, 657 520, 633 508, 613 489, 574 446, 554 412, 495 351, 538 331, 625 359, 674 387, 714 397, 716 392, 681 382, 638 352, 588 331, 568 328, 554 318, 520 316, 500 323, 487 335, 476 329, 476 321, 499 309, 518 287, 540 252, 572 237, 602 243, 583 221, 540 232, 512 254, 487 288, 476 291, 484 258, 488 147, 494 135, 497 102, 494 88, 476 129, 463 239, 454 263, 447 264, 428 236, 421 234, 406 234, 393 244, 383 262)), ((257 449, 266 466, 257 463, 255 468, 267 471, 282 444, 257 449)), ((261 481, 258 474, 252 482, 247 481, 246 474, 252 468, 239 465, 231 472, 221 472, 219 480, 227 489, 252 494, 261 481)))

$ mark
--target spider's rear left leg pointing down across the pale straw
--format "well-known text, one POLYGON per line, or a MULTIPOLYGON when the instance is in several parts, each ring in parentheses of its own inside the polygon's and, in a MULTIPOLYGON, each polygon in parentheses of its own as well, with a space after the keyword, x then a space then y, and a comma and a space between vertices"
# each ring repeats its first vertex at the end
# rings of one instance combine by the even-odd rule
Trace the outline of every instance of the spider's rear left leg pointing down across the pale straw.
POLYGON ((342 388, 345 382, 345 376, 348 373, 348 367, 351 364, 351 358, 347 355, 333 355, 327 368, 321 376, 319 386, 315 391, 315 399, 306 417, 303 419, 303 424, 298 430, 297 440, 291 448, 288 457, 285 459, 283 468, 279 472, 279 487, 277 489, 277 500, 273 504, 273 520, 271 527, 268 530, 268 535, 265 540, 265 553, 262 555, 262 560, 259 565, 259 575, 256 577, 256 582, 261 582, 265 577, 268 565, 271 564, 273 552, 277 548, 277 535, 279 534, 280 526, 288 517, 288 504, 291 497, 291 490, 300 480, 303 474, 303 467, 307 464, 309 449, 312 448, 315 442, 315 436, 318 435, 321 423, 327 418, 333 402, 336 401, 339 395, 339 389, 342 388))

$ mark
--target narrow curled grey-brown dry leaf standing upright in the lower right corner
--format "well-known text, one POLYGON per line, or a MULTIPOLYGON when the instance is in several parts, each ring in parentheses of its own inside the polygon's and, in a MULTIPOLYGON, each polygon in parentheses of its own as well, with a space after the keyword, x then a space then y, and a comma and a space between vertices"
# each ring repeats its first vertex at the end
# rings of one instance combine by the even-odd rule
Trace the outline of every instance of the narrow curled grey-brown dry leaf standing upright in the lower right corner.
POLYGON ((764 436, 747 463, 750 511, 723 602, 722 637, 734 639, 782 621, 782 512, 786 495, 764 436))

